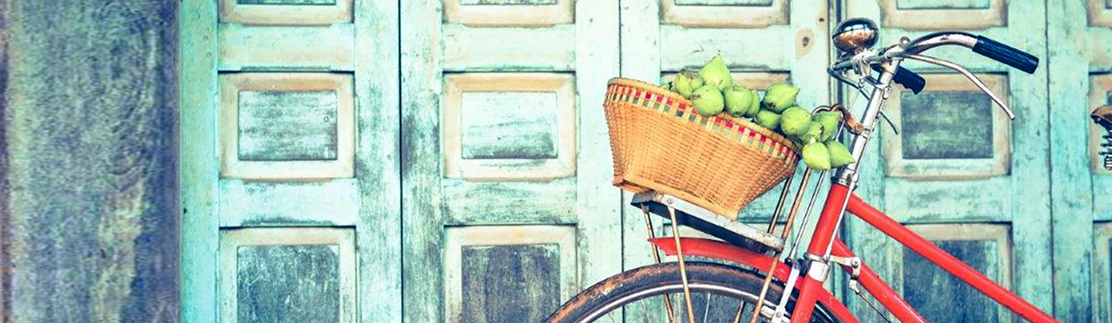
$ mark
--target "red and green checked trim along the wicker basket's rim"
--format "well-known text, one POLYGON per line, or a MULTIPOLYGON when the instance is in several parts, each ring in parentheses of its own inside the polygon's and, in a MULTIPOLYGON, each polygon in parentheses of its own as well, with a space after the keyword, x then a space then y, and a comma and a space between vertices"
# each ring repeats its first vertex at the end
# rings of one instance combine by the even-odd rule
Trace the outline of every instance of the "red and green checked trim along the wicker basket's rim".
POLYGON ((695 112, 695 107, 688 105, 687 101, 672 99, 668 95, 646 91, 644 89, 625 87, 622 84, 610 84, 607 89, 606 99, 610 101, 625 101, 645 110, 653 110, 669 115, 674 115, 687 122, 698 123, 709 131, 717 131, 723 134, 733 134, 734 139, 742 143, 757 148, 758 151, 776 157, 784 161, 795 160, 795 151, 767 135, 719 117, 702 117, 695 112))

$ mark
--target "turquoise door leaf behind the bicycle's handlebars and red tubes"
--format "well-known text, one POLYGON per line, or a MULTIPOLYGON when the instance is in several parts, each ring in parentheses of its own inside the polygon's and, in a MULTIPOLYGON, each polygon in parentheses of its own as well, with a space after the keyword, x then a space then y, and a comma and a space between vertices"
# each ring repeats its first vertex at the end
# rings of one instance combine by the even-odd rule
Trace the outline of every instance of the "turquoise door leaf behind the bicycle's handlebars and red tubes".
MULTIPOLYGON (((919 95, 901 89, 888 100, 885 112, 900 134, 884 122, 877 125, 884 130, 871 143, 860 194, 1049 312, 1053 285, 1045 4, 851 0, 844 2, 843 12, 875 20, 883 30, 882 44, 903 34, 914 38, 937 30, 966 30, 1043 58, 1037 72, 1029 75, 964 49, 929 52, 979 74, 1010 102, 1016 114, 1011 121, 960 74, 906 63, 926 78, 926 89, 919 95)), ((852 101, 854 93, 844 93, 852 101)), ((1011 321, 1006 309, 972 287, 959 286, 949 273, 867 224, 850 220, 847 226, 851 245, 927 320, 1011 321)), ((873 312, 855 296, 851 300, 854 313, 873 312)), ((872 315, 865 319, 880 320, 872 315)))

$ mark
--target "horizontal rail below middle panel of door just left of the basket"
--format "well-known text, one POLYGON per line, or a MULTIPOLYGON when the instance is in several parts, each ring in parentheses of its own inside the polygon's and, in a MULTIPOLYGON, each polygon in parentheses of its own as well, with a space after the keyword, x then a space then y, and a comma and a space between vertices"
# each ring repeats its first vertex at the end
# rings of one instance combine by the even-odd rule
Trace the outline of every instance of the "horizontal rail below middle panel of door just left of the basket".
POLYGON ((575 179, 543 183, 473 183, 460 180, 444 180, 443 183, 444 223, 447 225, 574 224, 577 221, 575 179), (528 205, 528 209, 523 205, 528 205))

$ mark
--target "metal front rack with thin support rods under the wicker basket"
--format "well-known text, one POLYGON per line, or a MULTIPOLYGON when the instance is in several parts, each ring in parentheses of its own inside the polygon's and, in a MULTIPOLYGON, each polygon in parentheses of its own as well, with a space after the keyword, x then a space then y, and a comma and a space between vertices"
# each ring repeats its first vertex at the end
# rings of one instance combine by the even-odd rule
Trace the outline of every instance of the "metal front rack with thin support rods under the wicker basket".
MULTIPOLYGON (((851 127, 855 127, 856 121, 853 120, 852 114, 848 113, 848 110, 841 104, 835 104, 833 107, 820 107, 815 109, 815 112, 818 111, 840 111, 843 113, 843 115, 848 117, 848 118, 843 118, 842 122, 840 123, 837 134, 835 134, 834 138, 840 138, 842 131, 845 130, 847 124, 850 124, 851 127)), ((656 191, 647 191, 634 194, 631 204, 641 208, 642 212, 644 213, 645 225, 648 231, 649 239, 656 238, 653 226, 653 220, 652 216, 649 216, 651 213, 671 220, 672 235, 674 236, 676 243, 676 258, 677 262, 679 263, 681 280, 683 281, 684 285, 684 300, 685 300, 685 305, 687 307, 688 321, 691 323, 694 323, 694 313, 692 311, 691 290, 688 289, 687 285, 686 263, 684 260, 683 251, 679 246, 678 225, 689 226, 692 229, 707 233, 714 238, 721 239, 725 242, 758 253, 766 253, 766 254, 772 253, 773 263, 772 266, 768 268, 766 271, 767 273, 772 273, 775 271, 776 266, 780 265, 780 261, 784 256, 785 251, 788 252, 790 258, 795 256, 795 252, 793 251, 797 250, 802 234, 800 233, 796 234, 795 241, 793 241, 792 245, 785 245, 785 242, 787 241, 787 238, 792 232, 792 226, 795 223, 795 216, 800 211, 800 206, 803 205, 804 193, 806 192, 807 183, 811 180, 812 173, 813 171, 811 170, 803 171, 803 178, 800 180, 798 185, 795 189, 794 199, 792 199, 792 204, 791 204, 792 206, 787 211, 787 219, 785 219, 786 221, 783 222, 784 228, 778 232, 778 234, 776 233, 775 230, 776 224, 780 223, 780 218, 784 213, 783 212, 784 206, 787 205, 787 195, 788 192, 792 191, 791 190, 792 181, 795 179, 795 174, 792 174, 786 180, 784 180, 784 184, 782 185, 782 190, 780 193, 780 199, 776 202, 776 208, 774 209, 772 219, 768 222, 768 228, 763 231, 758 228, 748 224, 743 224, 741 222, 728 220, 728 218, 726 216, 718 215, 709 210, 706 210, 702 206, 695 205, 694 203, 684 201, 673 195, 664 194, 656 191)), ((815 189, 813 190, 812 196, 807 202, 807 206, 805 209, 806 212, 802 221, 803 224, 801 225, 806 225, 806 222, 811 216, 811 210, 814 208, 818 193, 822 191, 821 189, 823 184, 823 179, 825 176, 826 176, 826 171, 822 171, 818 173, 820 180, 815 184, 815 189)), ((653 245, 653 259, 656 261, 656 263, 661 263, 661 254, 656 245, 653 245)), ((791 265, 791 260, 788 260, 788 263, 791 265)), ((792 268, 793 268, 792 274, 797 275, 798 268, 796 265, 792 265, 792 268)), ((761 294, 757 297, 756 302, 756 304, 761 305, 754 306, 753 314, 751 315, 752 317, 749 321, 751 323, 755 323, 756 319, 759 317, 761 312, 766 309, 766 305, 764 305, 764 303, 768 292, 768 286, 772 285, 772 277, 773 277, 772 274, 765 276, 764 285, 761 289, 761 294)), ((786 301, 790 295, 791 295, 790 292, 784 293, 784 295, 778 302, 778 305, 775 306, 777 312, 775 314, 778 314, 781 319, 783 319, 784 306, 786 305, 786 301)), ((744 312, 743 311, 744 304, 745 302, 742 302, 742 304, 738 306, 737 315, 735 315, 734 317, 735 319, 734 323, 739 322, 742 313, 744 312)), ((664 297, 664 305, 665 309, 667 310, 669 323, 675 323, 673 321, 674 309, 672 305, 672 301, 668 296, 664 297)), ((775 316, 774 320, 776 320, 775 316)))

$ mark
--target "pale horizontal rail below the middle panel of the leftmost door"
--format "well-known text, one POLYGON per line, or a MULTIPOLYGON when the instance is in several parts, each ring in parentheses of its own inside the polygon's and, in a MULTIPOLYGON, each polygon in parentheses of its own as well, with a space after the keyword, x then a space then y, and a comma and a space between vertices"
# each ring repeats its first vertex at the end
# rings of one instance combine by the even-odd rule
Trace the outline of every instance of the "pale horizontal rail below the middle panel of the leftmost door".
POLYGON ((359 183, 342 179, 318 183, 221 180, 220 228, 354 226, 360 209, 359 183))

